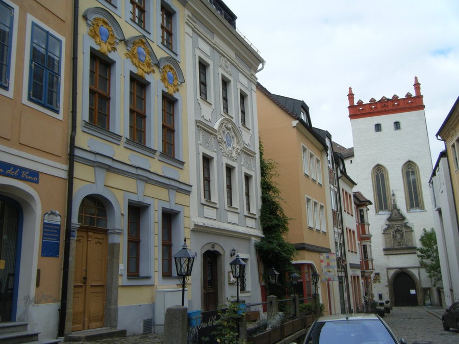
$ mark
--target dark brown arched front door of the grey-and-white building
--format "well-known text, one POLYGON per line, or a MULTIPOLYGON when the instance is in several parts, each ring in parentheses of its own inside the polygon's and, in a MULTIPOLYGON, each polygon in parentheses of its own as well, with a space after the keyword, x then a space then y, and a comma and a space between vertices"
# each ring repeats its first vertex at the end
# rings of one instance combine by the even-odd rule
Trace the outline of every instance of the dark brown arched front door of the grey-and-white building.
POLYGON ((217 254, 214 251, 206 251, 203 255, 203 286, 204 286, 204 310, 214 310, 218 306, 218 277, 217 277, 217 254))

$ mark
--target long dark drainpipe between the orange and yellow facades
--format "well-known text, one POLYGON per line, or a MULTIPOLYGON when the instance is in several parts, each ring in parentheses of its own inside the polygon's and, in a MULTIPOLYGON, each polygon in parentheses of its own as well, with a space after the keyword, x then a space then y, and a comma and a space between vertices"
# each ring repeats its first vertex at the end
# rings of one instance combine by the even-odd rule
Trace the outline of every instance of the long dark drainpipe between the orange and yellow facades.
POLYGON ((77 82, 78 82, 78 19, 79 0, 73 0, 73 47, 72 47, 72 105, 71 105, 71 128, 68 152, 68 175, 67 175, 67 210, 65 215, 65 239, 64 257, 62 268, 61 308, 59 313, 58 336, 65 334, 65 320, 67 313, 68 293, 68 267, 70 260, 70 235, 72 225, 72 199, 73 199, 73 175, 75 166, 75 135, 77 133, 77 82))

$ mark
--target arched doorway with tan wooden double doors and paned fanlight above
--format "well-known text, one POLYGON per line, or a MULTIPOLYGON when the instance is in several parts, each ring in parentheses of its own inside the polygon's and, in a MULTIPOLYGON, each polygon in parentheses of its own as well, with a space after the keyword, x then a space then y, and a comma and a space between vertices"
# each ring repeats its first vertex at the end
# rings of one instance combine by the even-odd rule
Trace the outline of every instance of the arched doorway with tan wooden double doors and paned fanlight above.
POLYGON ((107 291, 107 211, 87 196, 80 204, 75 240, 72 331, 104 326, 107 291))

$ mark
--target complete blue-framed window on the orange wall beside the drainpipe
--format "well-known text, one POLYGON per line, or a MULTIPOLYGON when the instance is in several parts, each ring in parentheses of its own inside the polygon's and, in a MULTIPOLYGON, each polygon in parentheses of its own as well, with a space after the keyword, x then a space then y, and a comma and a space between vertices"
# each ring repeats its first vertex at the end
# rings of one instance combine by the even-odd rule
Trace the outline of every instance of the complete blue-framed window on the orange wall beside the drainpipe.
POLYGON ((59 113, 62 42, 32 23, 29 100, 59 113))

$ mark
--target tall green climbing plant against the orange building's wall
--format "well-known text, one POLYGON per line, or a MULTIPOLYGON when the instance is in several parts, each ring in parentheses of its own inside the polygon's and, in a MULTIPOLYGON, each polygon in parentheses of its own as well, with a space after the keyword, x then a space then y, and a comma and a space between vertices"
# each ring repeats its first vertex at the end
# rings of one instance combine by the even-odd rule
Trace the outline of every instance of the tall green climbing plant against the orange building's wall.
MULTIPOLYGON (((265 160, 264 147, 260 140, 260 170, 261 170, 261 198, 260 222, 264 237, 256 243, 258 254, 265 267, 265 273, 274 268, 279 273, 277 285, 268 285, 268 292, 279 298, 284 298, 291 292, 291 285, 286 278, 293 272, 291 261, 296 255, 294 246, 289 243, 285 235, 289 231, 289 218, 284 213, 281 202, 281 192, 274 181, 276 163, 265 160)), ((266 279, 267 280, 267 279, 266 279)))

